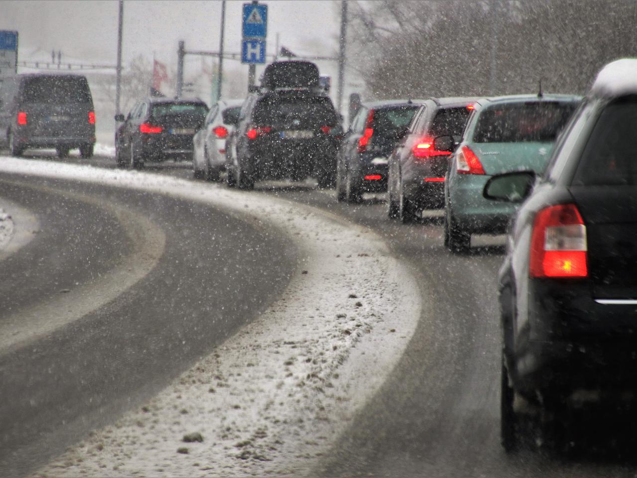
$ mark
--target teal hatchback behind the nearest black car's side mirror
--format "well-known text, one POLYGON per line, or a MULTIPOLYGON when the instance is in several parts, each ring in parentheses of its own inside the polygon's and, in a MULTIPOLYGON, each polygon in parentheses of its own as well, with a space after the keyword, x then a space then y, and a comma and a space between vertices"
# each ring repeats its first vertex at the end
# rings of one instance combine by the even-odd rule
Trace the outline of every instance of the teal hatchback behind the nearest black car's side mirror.
POLYGON ((581 99, 540 94, 476 101, 445 178, 445 246, 449 250, 468 250, 471 234, 506 231, 515 206, 483 198, 484 185, 492 175, 506 171, 541 173, 557 134, 581 99))

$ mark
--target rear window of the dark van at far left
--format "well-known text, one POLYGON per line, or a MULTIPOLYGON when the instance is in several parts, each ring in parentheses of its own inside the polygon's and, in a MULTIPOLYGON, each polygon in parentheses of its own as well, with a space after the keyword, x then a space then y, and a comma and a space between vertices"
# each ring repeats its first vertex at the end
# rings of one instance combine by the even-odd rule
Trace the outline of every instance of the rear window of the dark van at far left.
POLYGON ((89 83, 83 76, 36 76, 25 78, 22 89, 25 103, 91 103, 89 83))

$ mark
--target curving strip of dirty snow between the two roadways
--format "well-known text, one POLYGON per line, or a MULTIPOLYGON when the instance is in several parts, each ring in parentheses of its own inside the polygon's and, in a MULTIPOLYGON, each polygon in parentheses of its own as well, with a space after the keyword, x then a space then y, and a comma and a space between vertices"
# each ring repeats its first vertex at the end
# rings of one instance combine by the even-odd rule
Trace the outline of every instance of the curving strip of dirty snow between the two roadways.
POLYGON ((137 171, 0 160, 0 171, 223 208, 278 229, 300 254, 285 292, 255 321, 150 402, 78 437, 36 476, 307 475, 392 372, 415 330, 414 277, 362 226, 258 192, 137 171))

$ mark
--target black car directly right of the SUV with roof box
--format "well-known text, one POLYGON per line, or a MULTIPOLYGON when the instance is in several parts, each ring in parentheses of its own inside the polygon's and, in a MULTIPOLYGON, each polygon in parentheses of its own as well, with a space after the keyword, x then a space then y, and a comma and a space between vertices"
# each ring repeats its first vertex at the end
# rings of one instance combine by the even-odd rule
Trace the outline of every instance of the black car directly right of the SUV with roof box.
POLYGON ((419 106, 419 101, 397 99, 361 105, 341 142, 337 201, 357 203, 363 192, 387 191, 387 158, 419 106))

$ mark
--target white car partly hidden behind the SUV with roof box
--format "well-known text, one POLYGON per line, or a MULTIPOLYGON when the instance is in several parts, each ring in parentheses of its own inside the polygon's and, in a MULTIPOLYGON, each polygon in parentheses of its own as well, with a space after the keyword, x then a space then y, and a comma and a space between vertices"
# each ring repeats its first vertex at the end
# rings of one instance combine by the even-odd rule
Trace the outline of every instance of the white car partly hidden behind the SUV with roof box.
POLYGON ((195 178, 219 180, 225 168, 225 138, 239 117, 241 105, 243 99, 220 99, 210 108, 204 126, 192 138, 192 171, 195 178))

